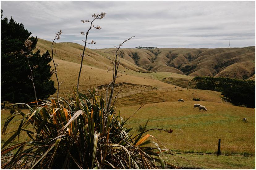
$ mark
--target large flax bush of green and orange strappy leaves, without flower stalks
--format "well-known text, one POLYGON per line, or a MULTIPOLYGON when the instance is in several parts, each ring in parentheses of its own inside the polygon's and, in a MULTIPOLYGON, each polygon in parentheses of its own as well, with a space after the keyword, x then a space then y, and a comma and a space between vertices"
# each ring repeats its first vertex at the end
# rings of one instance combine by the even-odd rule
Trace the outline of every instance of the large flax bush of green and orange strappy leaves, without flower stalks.
POLYGON ((81 93, 77 96, 76 92, 68 100, 61 98, 57 102, 52 98, 36 109, 24 104, 30 113, 11 114, 4 124, 3 133, 12 119, 22 118, 19 127, 1 148, 1 155, 14 152, 13 158, 1 168, 151 169, 157 168, 155 161, 162 168, 164 164, 177 168, 161 158, 164 152, 171 154, 168 149, 160 149, 157 143, 149 140, 153 136, 143 136, 149 131, 146 130, 148 121, 141 133, 132 136, 129 133, 132 128, 125 126, 129 118, 123 120, 113 105, 106 114, 103 97, 96 97, 95 90, 89 93, 90 98, 81 93), (27 130, 28 123, 34 132, 27 130), (23 131, 29 140, 9 146, 23 131), (155 147, 147 146, 149 143, 155 147))

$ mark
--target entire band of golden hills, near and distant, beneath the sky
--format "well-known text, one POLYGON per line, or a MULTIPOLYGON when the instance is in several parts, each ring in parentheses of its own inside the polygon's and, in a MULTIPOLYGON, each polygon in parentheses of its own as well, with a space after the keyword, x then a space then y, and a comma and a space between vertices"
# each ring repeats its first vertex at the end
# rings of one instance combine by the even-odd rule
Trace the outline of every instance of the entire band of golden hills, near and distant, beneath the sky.
MULTIPOLYGON (((51 51, 52 42, 38 38, 35 50, 51 51)), ((83 46, 77 43, 54 43, 55 62, 59 63, 60 93, 76 86, 83 46)), ((223 76, 255 80, 255 47, 219 49, 122 49, 116 89, 122 93, 148 88, 188 87, 194 76, 223 76)), ((86 49, 80 89, 104 87, 111 82, 108 57, 115 49, 86 49), (89 81, 90 78, 90 81, 89 81), (103 86, 102 86, 103 85, 103 86)), ((53 67, 53 63, 50 63, 53 67)), ((56 82, 56 77, 52 79, 56 82)), ((55 84, 57 87, 57 84, 55 84)), ((117 92, 116 92, 117 93, 117 92)), ((54 95, 53 95, 54 96, 54 95)))

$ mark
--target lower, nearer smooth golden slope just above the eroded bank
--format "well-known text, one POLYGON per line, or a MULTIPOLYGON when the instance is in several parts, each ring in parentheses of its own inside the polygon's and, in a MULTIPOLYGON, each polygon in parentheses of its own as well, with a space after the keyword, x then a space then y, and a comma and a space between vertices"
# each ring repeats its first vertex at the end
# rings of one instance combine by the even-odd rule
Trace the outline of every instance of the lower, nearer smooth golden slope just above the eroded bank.
MULTIPOLYGON (((59 65, 57 67, 58 70, 58 79, 61 82, 60 85, 60 94, 62 93, 71 93, 73 92, 73 87, 77 85, 77 78, 80 69, 80 64, 63 61, 59 59, 55 59, 55 62, 58 62, 59 65)), ((51 63, 53 67, 53 63, 51 63)), ((136 85, 147 85, 151 86, 151 88, 173 88, 175 85, 171 85, 168 83, 164 83, 162 81, 157 81, 155 79, 151 79, 149 77, 139 77, 134 75, 127 75, 126 72, 119 73, 118 75, 122 75, 118 77, 116 83, 131 83, 136 85)), ((58 87, 57 80, 55 75, 53 75, 52 80, 55 82, 55 87, 58 87)), ((88 65, 83 65, 80 82, 79 82, 79 91, 81 93, 88 93, 87 89, 97 87, 99 85, 106 85, 112 81, 112 72, 107 72, 107 69, 99 69, 88 65), (91 82, 89 81, 91 80, 91 82)), ((124 91, 130 89, 130 87, 123 87, 124 91)), ((139 86, 138 90, 145 89, 143 86, 139 86)), ((117 93, 117 91, 115 91, 117 93)), ((57 94, 54 94, 53 97, 56 97, 57 94)))

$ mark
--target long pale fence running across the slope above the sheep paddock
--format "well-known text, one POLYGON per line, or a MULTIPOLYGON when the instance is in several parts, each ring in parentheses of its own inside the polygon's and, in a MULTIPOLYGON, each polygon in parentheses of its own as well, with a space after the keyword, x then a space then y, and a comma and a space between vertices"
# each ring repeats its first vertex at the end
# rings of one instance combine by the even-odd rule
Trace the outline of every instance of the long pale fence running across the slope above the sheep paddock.
POLYGON ((131 96, 131 95, 142 93, 142 92, 151 92, 151 91, 171 92, 171 91, 182 91, 182 90, 189 90, 189 89, 190 88, 144 89, 144 90, 137 90, 137 91, 133 91, 133 92, 118 94, 117 96, 113 96, 112 100, 115 99, 115 98, 122 98, 122 97, 131 96))

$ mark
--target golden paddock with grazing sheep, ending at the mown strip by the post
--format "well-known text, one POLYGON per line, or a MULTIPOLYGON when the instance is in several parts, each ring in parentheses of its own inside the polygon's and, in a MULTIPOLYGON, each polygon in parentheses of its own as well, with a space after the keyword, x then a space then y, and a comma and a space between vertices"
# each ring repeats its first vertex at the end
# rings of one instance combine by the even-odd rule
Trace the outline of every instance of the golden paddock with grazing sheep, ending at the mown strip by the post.
POLYGON ((173 133, 150 132, 167 148, 179 152, 214 153, 221 139, 223 154, 255 154, 255 109, 233 106, 220 93, 207 90, 147 92, 121 98, 117 108, 135 133, 149 119, 148 129, 173 129, 173 133), (194 94, 193 94, 194 93, 194 94), (193 101, 198 97, 201 101, 193 101), (182 98, 185 102, 177 102, 182 98), (193 109, 194 104, 206 106, 207 112, 193 109), (247 118, 247 122, 242 121, 247 118))

